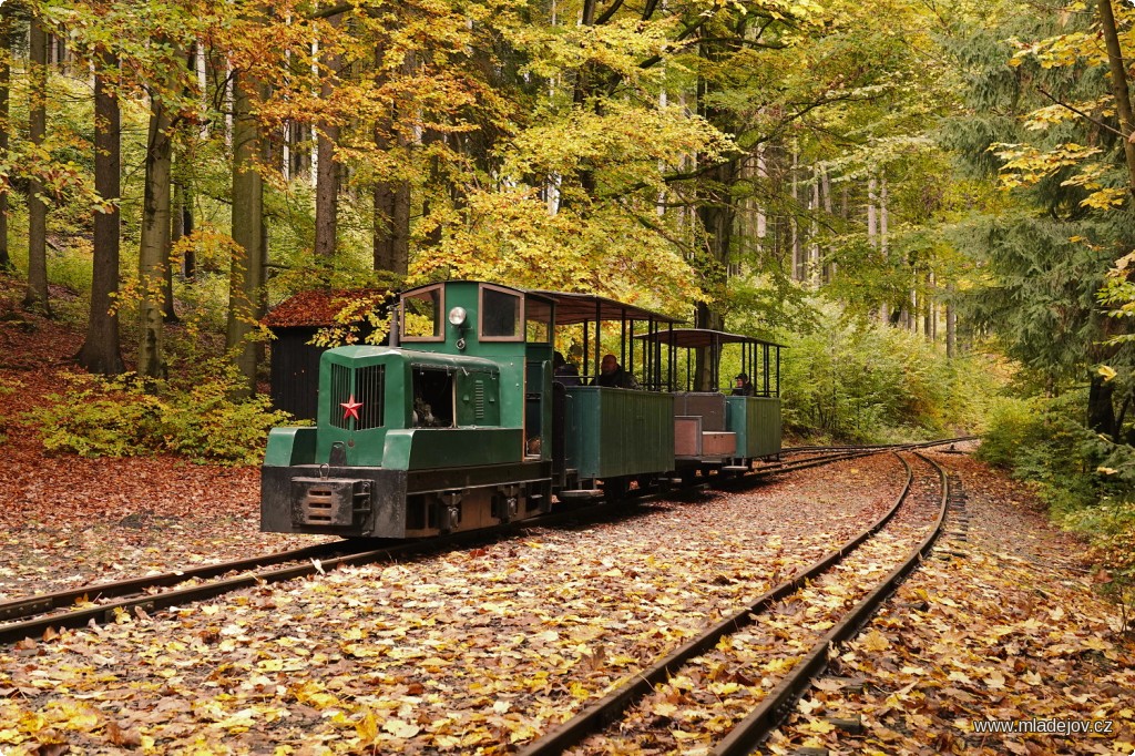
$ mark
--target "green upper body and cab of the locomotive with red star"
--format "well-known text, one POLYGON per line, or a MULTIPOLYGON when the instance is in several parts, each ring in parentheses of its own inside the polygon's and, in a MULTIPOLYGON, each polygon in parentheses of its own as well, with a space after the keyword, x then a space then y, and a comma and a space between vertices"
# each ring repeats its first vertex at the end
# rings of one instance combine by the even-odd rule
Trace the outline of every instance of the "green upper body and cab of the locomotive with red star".
MULTIPOLYGON (((531 438, 552 428, 545 401, 552 311, 533 304, 522 292, 477 282, 405 292, 402 346, 328 350, 320 361, 316 427, 272 429, 264 465, 333 463, 336 445, 340 467, 421 470, 521 461, 526 429, 531 438), (455 311, 463 318, 451 319, 455 311), (533 334, 538 341, 528 343, 533 334)), ((537 455, 549 459, 549 446, 537 455)))

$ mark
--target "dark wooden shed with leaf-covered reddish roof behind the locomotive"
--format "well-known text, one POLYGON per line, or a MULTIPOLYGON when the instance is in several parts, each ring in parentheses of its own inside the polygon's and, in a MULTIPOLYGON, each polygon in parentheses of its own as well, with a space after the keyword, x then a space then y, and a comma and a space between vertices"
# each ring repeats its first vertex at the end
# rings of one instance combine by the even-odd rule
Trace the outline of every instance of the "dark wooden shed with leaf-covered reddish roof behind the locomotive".
POLYGON ((272 406, 314 420, 319 359, 328 347, 310 342, 321 329, 335 326, 347 326, 360 341, 364 339, 373 330, 367 321, 368 311, 381 311, 394 301, 394 294, 384 289, 310 289, 272 308, 263 319, 274 336, 269 379, 272 406), (352 308, 359 310, 358 317, 340 322, 340 313, 352 308))

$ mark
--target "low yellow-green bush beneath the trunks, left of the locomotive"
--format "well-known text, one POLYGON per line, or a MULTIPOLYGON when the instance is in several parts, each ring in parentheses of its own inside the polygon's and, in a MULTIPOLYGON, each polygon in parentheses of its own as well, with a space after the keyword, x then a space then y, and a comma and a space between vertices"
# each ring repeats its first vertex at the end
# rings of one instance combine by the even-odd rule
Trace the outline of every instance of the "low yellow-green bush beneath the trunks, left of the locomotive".
POLYGON ((182 377, 68 377, 69 389, 32 413, 49 452, 83 456, 182 454, 194 462, 254 464, 268 430, 287 420, 267 397, 235 401, 243 379, 228 361, 204 360, 182 377))

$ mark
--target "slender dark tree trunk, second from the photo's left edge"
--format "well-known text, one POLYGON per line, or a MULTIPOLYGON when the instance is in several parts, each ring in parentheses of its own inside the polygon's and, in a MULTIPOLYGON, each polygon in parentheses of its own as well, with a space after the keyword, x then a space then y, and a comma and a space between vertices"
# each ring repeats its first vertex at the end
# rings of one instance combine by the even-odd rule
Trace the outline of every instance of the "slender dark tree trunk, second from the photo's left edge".
MULTIPOLYGON (((37 18, 32 18, 28 50, 28 125, 27 136, 32 144, 43 144, 47 135, 48 111, 48 35, 37 18)), ((27 192, 27 293, 24 308, 43 314, 51 314, 48 303, 48 205, 43 202, 45 188, 33 176, 27 192)))

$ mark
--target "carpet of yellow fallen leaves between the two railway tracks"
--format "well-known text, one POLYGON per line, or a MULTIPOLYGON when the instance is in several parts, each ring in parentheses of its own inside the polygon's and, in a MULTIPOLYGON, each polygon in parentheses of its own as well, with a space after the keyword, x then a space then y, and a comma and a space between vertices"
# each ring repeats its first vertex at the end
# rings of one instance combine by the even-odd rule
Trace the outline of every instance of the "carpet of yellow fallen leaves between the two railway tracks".
MULTIPOLYGON (((897 487, 896 462, 868 467, 848 482, 897 487)), ((83 748, 114 723, 161 749, 505 750, 877 514, 780 488, 68 632, 15 650, 0 715, 30 722, 12 739, 42 725, 83 748)))

